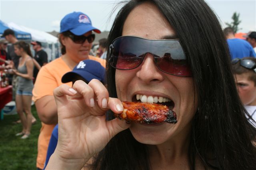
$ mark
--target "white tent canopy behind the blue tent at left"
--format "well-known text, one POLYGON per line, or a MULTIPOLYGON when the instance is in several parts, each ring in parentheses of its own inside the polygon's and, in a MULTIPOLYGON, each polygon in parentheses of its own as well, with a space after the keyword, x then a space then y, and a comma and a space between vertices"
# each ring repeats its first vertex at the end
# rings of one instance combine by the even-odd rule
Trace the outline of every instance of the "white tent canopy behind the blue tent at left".
POLYGON ((32 37, 32 41, 40 41, 42 43, 49 43, 49 44, 53 44, 53 43, 57 43, 58 42, 58 38, 54 37, 53 35, 46 33, 44 31, 39 31, 36 29, 32 29, 32 28, 28 28, 22 25, 17 25, 14 22, 10 22, 7 24, 8 27, 13 28, 13 29, 18 29, 20 31, 25 31, 31 34, 32 37))

